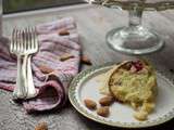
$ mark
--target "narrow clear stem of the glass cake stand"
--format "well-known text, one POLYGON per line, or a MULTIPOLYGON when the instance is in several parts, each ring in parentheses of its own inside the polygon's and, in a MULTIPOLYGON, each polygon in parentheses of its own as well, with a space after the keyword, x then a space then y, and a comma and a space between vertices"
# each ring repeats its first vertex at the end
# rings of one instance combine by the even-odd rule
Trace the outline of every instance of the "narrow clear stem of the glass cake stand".
POLYGON ((129 10, 129 27, 136 27, 141 25, 142 9, 138 5, 134 5, 129 10))

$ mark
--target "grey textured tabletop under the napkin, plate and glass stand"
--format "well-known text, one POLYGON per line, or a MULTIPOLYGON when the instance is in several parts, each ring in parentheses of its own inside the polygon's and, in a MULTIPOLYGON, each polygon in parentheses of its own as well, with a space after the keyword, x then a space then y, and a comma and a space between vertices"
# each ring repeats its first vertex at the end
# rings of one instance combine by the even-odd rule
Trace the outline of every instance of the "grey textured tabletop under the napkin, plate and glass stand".
MULTIPOLYGON (((61 9, 50 9, 22 14, 5 15, 3 17, 3 34, 11 36, 12 29, 39 23, 50 22, 64 16, 75 17, 80 34, 84 53, 88 55, 94 65, 107 62, 120 62, 135 56, 124 55, 111 50, 105 43, 105 34, 128 23, 126 11, 111 10, 102 6, 75 5, 61 9)), ((165 40, 165 48, 160 52, 144 55, 150 60, 158 70, 167 78, 174 79, 171 69, 174 69, 174 11, 145 12, 144 25, 157 30, 165 40)), ((3 74, 0 74, 3 75, 3 74)), ((69 105, 58 113, 41 115, 27 115, 22 106, 14 104, 12 94, 0 90, 0 130, 34 130, 36 123, 48 122, 49 130, 119 130, 91 121, 79 115, 73 106, 69 105)), ((174 119, 149 130, 174 130, 174 119)))

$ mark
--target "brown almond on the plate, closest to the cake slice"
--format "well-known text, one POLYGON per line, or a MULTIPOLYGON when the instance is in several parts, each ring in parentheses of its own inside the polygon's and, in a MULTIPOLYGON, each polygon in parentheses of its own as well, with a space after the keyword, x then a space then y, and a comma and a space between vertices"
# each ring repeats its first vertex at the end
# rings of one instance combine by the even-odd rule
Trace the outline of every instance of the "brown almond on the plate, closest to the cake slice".
POLYGON ((104 96, 104 98, 101 98, 100 100, 99 100, 99 103, 100 103, 100 105, 102 105, 102 106, 109 106, 109 105, 111 105, 112 103, 113 103, 113 96, 104 96))

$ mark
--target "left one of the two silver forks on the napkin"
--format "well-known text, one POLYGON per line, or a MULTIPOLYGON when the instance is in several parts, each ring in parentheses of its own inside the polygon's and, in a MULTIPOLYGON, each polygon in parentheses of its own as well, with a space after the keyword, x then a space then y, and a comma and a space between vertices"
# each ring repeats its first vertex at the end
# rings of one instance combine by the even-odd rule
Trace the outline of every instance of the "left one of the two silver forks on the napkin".
POLYGON ((10 44, 10 52, 17 56, 17 78, 16 78, 16 87, 13 91, 14 99, 25 99, 26 98, 26 90, 25 90, 25 73, 26 70, 23 69, 23 58, 24 55, 24 44, 22 38, 22 30, 13 29, 12 32, 12 41, 10 44))

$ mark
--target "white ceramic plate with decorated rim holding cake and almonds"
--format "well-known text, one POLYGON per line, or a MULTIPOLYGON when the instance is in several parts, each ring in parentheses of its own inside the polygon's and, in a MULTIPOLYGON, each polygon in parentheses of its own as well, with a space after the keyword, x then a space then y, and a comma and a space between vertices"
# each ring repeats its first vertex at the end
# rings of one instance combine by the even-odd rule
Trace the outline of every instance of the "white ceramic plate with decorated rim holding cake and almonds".
MULTIPOLYGON (((89 110, 84 105, 84 99, 92 99, 98 102, 102 94, 99 93, 98 77, 109 70, 112 65, 103 65, 92 67, 82 72, 74 78, 70 86, 69 98, 73 106, 84 116, 95 121, 124 128, 142 128, 163 123, 174 117, 174 84, 157 73, 158 79, 158 96, 157 106, 152 114, 149 115, 148 120, 138 121, 133 117, 134 110, 127 105, 114 103, 110 107, 110 116, 104 118, 98 116, 96 112, 89 110)), ((99 106, 99 104, 98 104, 99 106)))

